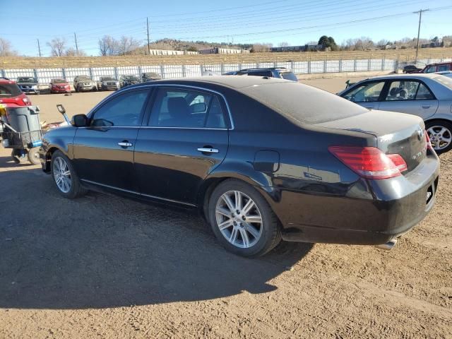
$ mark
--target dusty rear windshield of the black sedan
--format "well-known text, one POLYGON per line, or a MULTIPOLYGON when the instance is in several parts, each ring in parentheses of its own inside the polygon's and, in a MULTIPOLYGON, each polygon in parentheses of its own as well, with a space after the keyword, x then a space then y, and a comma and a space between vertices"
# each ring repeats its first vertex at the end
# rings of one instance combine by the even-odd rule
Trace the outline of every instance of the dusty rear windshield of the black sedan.
POLYGON ((369 112, 338 95, 295 82, 254 85, 241 91, 298 124, 319 124, 369 112))

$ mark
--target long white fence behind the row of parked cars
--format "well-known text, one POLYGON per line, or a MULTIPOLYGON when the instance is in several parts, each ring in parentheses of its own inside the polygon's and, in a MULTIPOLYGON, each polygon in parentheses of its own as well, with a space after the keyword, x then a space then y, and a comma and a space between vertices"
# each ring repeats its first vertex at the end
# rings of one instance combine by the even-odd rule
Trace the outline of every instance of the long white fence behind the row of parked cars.
MULTIPOLYGON (((433 64, 436 62, 452 61, 452 59, 421 59, 417 65, 433 64)), ((52 78, 64 78, 72 82, 75 76, 87 75, 93 80, 101 76, 121 75, 141 76, 142 73, 154 72, 162 78, 186 78, 201 76, 204 71, 215 73, 239 71, 259 67, 285 67, 292 69, 295 74, 309 73, 341 73, 359 71, 395 71, 403 68, 405 62, 397 59, 350 59, 350 60, 324 60, 324 61, 278 61, 257 62, 244 64, 204 64, 204 65, 157 65, 157 66, 124 66, 124 67, 87 67, 73 69, 0 69, 0 77, 16 80, 20 76, 37 78, 39 83, 48 84, 52 78)))

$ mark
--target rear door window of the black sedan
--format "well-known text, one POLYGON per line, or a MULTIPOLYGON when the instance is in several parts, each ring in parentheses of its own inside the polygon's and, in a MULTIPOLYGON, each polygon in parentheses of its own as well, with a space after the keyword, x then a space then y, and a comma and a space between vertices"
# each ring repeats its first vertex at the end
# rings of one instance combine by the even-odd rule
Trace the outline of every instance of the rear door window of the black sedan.
POLYGON ((211 129, 227 126, 216 95, 172 88, 157 91, 149 125, 211 129))

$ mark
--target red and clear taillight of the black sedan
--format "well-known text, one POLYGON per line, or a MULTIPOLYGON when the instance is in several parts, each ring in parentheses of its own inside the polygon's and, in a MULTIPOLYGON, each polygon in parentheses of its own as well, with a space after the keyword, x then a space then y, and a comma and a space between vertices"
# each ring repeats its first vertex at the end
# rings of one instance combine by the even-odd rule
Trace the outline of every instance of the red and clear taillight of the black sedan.
POLYGON ((330 146, 328 150, 353 172, 367 179, 398 177, 408 168, 400 155, 386 155, 375 147, 330 146))

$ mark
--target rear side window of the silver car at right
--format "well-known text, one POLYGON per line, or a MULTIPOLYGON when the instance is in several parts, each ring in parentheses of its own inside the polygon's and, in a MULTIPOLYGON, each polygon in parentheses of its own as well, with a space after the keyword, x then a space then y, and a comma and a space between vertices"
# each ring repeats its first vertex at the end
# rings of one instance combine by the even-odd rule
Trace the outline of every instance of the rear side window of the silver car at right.
POLYGON ((393 81, 386 96, 386 101, 430 99, 434 99, 434 96, 427 86, 412 80, 393 81))

